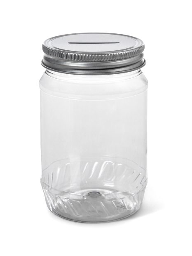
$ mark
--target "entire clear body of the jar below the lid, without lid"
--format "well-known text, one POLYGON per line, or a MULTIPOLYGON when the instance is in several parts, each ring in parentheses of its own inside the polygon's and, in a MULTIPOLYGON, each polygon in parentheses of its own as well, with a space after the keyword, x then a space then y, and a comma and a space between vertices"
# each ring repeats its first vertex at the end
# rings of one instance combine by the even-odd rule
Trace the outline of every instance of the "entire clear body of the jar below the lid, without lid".
POLYGON ((41 184, 49 209, 73 221, 135 213, 147 183, 147 87, 136 70, 40 80, 41 184))

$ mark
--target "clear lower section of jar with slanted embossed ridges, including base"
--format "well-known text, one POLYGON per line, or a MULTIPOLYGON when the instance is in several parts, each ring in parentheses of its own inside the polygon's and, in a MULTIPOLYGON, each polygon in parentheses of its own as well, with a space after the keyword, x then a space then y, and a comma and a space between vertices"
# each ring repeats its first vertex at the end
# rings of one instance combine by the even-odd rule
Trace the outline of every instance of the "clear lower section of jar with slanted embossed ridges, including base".
POLYGON ((81 157, 52 163, 42 172, 41 184, 54 214, 71 221, 103 222, 138 211, 147 178, 130 160, 81 157))

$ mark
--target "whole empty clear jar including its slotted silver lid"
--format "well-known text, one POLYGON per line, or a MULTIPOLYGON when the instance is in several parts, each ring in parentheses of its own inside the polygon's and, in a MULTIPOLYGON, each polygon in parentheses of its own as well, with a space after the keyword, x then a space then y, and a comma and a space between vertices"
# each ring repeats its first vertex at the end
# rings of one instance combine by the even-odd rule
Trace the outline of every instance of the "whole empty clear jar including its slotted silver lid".
POLYGON ((80 33, 43 44, 41 184, 49 209, 72 221, 135 213, 147 184, 144 44, 80 33))

